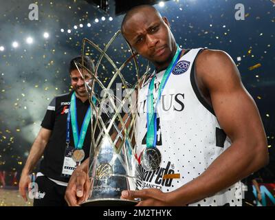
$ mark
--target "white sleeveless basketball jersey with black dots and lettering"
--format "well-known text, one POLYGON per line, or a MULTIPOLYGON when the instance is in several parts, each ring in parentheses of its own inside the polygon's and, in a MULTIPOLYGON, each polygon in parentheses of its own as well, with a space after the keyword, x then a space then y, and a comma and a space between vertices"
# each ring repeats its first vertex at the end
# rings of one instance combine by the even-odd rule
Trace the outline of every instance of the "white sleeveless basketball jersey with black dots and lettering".
MULTIPOLYGON (((154 171, 138 166, 137 175, 142 182, 137 188, 159 188, 171 192, 203 173, 208 166, 231 145, 212 107, 202 98, 195 83, 195 58, 203 49, 192 49, 181 56, 170 74, 157 104, 157 148, 162 153, 162 164, 154 171), (166 179, 167 174, 177 174, 166 179), (163 178, 164 177, 164 178, 163 178)), ((157 91, 164 71, 155 78, 157 91)), ((146 112, 148 86, 154 74, 138 92, 136 122, 136 155, 139 164, 146 148, 146 112)), ((237 182, 216 195, 206 197, 189 206, 241 206, 241 182, 237 182)))

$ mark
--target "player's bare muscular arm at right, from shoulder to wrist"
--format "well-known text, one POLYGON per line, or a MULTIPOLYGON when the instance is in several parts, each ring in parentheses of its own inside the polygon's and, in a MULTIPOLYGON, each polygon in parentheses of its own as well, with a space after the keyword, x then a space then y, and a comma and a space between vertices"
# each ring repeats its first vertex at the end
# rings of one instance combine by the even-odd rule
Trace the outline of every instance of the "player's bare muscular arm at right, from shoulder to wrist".
POLYGON ((259 111, 243 87, 232 58, 225 52, 206 50, 198 56, 197 63, 197 78, 208 89, 217 120, 232 145, 199 177, 171 193, 181 204, 228 188, 269 160, 259 111))

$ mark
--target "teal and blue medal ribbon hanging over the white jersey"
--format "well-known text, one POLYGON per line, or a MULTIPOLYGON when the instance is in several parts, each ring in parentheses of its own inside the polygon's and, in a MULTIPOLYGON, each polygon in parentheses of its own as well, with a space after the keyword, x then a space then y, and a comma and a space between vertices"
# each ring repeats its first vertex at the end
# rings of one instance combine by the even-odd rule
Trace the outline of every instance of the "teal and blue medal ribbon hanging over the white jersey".
POLYGON ((177 45, 177 52, 174 55, 173 60, 167 67, 164 73, 164 76, 162 77, 162 82, 159 85, 155 107, 154 107, 154 96, 153 96, 155 76, 153 76, 149 84, 148 96, 147 96, 147 135, 146 135, 147 148, 154 148, 157 145, 157 112, 156 112, 157 104, 162 96, 162 91, 168 81, 168 78, 172 70, 177 64, 177 61, 179 61, 180 54, 181 54, 181 50, 177 45))

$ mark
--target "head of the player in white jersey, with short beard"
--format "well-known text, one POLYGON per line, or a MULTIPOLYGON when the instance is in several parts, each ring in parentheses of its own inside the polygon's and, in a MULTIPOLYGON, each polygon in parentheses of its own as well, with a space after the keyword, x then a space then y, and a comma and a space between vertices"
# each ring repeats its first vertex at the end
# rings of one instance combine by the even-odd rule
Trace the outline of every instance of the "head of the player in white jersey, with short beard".
POLYGON ((151 5, 132 8, 121 25, 122 35, 131 48, 156 68, 167 67, 177 50, 170 24, 151 5))

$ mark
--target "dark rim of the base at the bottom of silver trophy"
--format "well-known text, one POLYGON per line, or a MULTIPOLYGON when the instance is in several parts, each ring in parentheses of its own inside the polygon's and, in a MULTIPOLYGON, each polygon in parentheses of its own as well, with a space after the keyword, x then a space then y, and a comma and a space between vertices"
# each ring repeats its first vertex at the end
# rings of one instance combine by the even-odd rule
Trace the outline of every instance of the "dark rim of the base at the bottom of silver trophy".
POLYGON ((93 199, 80 206, 135 206, 137 203, 138 201, 129 199, 93 199))

